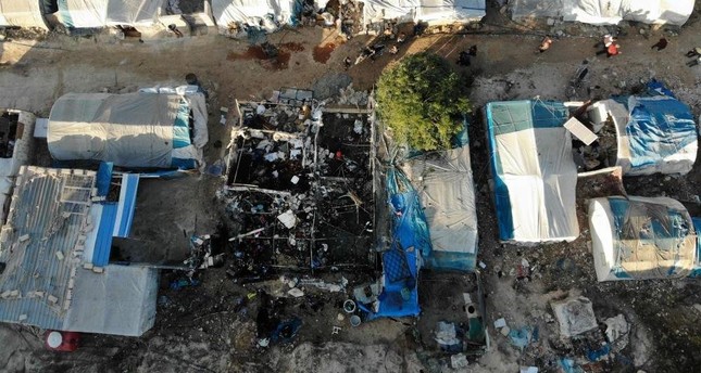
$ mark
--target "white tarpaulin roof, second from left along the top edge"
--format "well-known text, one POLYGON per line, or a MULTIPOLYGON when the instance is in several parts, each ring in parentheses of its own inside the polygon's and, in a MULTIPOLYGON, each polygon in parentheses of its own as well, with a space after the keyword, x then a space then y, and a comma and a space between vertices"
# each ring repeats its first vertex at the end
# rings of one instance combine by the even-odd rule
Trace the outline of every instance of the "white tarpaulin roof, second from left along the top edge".
POLYGON ((59 16, 67 27, 151 26, 163 0, 59 0, 59 16))

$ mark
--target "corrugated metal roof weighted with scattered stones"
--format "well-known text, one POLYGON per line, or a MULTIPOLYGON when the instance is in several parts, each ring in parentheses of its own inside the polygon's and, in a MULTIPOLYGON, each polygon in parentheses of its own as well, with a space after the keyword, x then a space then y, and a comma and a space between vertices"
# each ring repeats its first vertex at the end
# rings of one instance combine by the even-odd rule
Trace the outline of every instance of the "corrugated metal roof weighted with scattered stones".
POLYGON ((88 234, 96 173, 23 167, 0 234, 0 321, 61 329, 88 234))

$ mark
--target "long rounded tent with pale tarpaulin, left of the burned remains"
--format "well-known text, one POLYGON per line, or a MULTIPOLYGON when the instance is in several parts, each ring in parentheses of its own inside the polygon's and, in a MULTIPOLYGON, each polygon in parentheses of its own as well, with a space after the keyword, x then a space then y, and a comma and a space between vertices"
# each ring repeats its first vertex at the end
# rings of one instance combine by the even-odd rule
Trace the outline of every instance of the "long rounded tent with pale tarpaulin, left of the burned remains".
POLYGON ((206 105, 202 93, 185 90, 65 94, 49 115, 49 152, 59 160, 196 168, 208 141, 206 105))

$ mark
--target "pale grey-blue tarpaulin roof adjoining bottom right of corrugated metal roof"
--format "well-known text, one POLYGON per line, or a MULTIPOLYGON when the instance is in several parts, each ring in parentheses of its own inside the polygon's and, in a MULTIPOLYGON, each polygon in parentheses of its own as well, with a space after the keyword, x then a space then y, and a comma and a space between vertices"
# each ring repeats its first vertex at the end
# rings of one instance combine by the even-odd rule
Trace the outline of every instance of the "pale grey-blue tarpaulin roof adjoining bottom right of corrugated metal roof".
POLYGON ((138 266, 77 269, 64 331, 140 336, 155 321, 158 270, 138 266))

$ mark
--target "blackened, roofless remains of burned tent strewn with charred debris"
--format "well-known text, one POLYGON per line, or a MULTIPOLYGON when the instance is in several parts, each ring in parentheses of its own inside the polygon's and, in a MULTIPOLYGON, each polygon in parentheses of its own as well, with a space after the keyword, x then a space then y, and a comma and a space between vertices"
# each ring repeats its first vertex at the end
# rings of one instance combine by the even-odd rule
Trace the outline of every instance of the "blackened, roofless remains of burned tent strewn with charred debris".
POLYGON ((243 102, 238 110, 241 123, 231 132, 220 192, 236 256, 229 274, 253 281, 276 270, 372 269, 366 114, 312 106, 311 100, 243 102))

